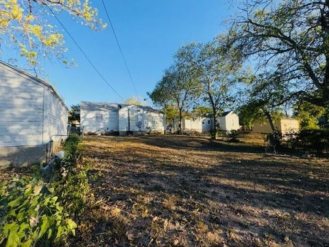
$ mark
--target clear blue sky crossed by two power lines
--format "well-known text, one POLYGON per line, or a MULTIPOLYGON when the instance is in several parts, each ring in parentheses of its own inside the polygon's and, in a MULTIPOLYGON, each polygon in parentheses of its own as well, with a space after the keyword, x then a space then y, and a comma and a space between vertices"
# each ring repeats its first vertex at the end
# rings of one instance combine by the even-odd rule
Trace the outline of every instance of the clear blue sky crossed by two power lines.
MULTIPOLYGON (((224 0, 105 1, 141 97, 147 97, 147 91, 154 89, 181 45, 206 42, 225 32, 223 21, 233 12, 224 0)), ((99 9, 99 17, 107 22, 101 1, 94 0, 93 5, 99 9)), ((136 95, 110 27, 94 32, 66 14, 58 17, 108 82, 124 98, 136 95)), ((66 69, 56 60, 41 64, 43 77, 58 89, 66 105, 81 101, 122 102, 99 78, 69 36, 64 34, 64 37, 69 49, 66 56, 74 58, 77 67, 66 69)), ((16 58, 16 52, 10 51, 6 56, 16 58)), ((150 99, 147 103, 151 104, 150 99)))

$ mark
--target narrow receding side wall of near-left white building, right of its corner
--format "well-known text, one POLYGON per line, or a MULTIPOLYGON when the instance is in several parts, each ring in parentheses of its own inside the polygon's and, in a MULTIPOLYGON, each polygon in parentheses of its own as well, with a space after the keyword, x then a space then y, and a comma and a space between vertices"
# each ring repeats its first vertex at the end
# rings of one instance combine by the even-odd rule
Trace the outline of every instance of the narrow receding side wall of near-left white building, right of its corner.
POLYGON ((47 89, 46 93, 47 106, 45 108, 45 133, 47 135, 44 141, 58 141, 65 139, 67 135, 67 108, 58 98, 58 96, 47 89))

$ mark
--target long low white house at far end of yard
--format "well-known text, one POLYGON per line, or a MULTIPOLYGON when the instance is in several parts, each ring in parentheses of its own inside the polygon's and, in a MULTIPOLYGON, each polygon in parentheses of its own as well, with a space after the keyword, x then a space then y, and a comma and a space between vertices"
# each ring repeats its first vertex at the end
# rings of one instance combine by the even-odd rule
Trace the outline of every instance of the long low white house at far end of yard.
POLYGON ((149 106, 81 102, 80 123, 85 134, 164 134, 164 115, 149 106))

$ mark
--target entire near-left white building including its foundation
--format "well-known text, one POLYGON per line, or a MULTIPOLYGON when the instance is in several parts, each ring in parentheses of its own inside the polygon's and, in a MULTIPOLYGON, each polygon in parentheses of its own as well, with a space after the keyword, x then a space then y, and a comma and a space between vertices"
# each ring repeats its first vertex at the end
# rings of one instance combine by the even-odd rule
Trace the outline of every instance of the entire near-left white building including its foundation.
POLYGON ((0 62, 0 167, 44 161, 66 139, 67 113, 50 84, 0 62))

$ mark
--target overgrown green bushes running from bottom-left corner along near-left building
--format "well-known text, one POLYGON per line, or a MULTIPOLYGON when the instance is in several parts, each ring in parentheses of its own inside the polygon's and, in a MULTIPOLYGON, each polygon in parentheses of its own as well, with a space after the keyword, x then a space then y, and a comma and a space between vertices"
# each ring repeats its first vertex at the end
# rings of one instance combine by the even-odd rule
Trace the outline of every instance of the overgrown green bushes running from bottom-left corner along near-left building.
POLYGON ((77 225, 77 216, 93 198, 88 183, 88 165, 82 158, 80 137, 66 139, 64 159, 54 167, 47 183, 39 174, 0 185, 0 246, 53 246, 77 225))

